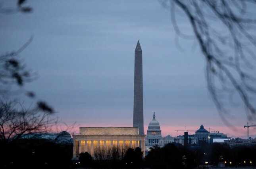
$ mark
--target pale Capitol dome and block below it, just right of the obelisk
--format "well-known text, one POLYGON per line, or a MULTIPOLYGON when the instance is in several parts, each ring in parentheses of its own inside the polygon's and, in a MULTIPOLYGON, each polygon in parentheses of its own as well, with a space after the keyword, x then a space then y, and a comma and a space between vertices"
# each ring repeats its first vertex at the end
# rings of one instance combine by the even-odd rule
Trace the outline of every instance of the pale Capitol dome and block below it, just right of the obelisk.
POLYGON ((146 146, 163 144, 161 129, 158 121, 156 120, 155 112, 154 112, 152 121, 150 121, 148 125, 145 144, 146 146))

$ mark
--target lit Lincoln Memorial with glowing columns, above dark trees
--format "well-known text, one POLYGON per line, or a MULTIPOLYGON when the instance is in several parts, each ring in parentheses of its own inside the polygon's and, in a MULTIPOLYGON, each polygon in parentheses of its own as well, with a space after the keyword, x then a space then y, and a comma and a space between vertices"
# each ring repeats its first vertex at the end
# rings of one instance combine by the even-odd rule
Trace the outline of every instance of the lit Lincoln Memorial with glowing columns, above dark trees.
POLYGON ((82 152, 93 157, 97 148, 113 146, 140 147, 145 157, 145 135, 139 135, 138 127, 80 127, 79 135, 73 135, 73 159, 82 152))

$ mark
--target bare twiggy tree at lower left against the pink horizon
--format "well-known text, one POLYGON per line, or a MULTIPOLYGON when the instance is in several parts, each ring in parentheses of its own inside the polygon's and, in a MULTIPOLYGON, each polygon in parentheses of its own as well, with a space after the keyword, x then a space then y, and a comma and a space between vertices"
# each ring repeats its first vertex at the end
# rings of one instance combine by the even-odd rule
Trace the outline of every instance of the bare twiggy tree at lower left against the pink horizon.
POLYGON ((0 142, 15 142, 29 133, 46 133, 58 119, 52 118, 52 109, 37 106, 25 109, 22 105, 0 100, 0 142))

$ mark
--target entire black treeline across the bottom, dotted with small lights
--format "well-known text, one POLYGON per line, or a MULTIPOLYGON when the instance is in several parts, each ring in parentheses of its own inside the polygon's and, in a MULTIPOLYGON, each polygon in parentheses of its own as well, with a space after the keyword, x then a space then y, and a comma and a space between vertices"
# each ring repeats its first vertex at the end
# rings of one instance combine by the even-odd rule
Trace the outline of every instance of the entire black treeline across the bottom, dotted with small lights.
POLYGON ((140 148, 114 146, 96 148, 94 158, 88 152, 72 161, 73 144, 56 144, 43 139, 20 139, 17 142, 0 142, 0 168, 151 168, 192 169, 218 166, 256 166, 256 146, 230 148, 226 144, 204 144, 186 147, 167 144, 154 146, 143 159, 140 148))

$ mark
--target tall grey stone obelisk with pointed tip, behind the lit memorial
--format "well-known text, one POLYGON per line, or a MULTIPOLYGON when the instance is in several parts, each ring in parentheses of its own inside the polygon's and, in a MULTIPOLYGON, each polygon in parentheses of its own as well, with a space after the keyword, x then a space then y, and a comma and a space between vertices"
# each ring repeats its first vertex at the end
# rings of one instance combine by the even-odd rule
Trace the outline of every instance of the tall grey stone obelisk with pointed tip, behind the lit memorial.
POLYGON ((139 135, 144 135, 143 124, 142 50, 138 40, 134 59, 133 127, 139 127, 139 135))

